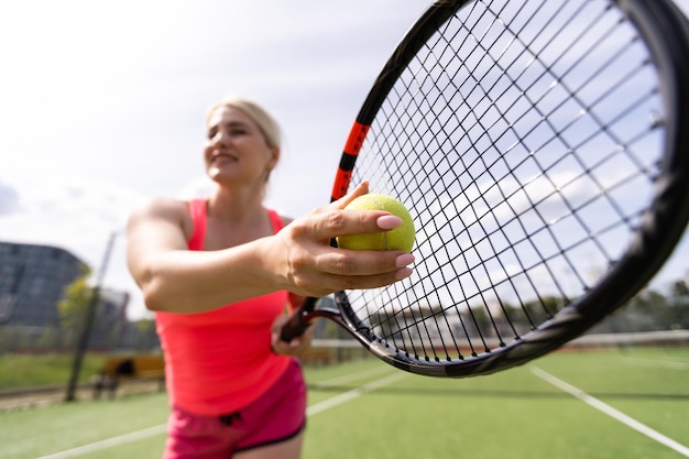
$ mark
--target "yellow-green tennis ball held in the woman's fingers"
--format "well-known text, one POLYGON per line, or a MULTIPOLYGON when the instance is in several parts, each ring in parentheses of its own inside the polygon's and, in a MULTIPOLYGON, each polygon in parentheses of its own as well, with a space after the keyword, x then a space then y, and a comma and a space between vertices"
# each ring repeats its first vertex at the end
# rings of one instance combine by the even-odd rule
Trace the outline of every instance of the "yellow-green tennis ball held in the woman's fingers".
POLYGON ((346 209, 385 210, 402 219, 402 226, 389 231, 368 234, 344 234, 337 238, 338 247, 350 250, 402 250, 414 247, 414 221, 409 211, 397 199, 380 194, 368 194, 352 200, 346 209))

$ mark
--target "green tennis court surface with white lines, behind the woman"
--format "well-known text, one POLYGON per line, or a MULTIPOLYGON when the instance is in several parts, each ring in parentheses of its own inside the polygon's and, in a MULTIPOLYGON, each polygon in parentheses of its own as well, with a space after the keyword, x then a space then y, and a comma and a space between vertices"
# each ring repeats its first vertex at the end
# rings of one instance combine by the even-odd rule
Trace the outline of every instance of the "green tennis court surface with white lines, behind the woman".
MULTIPOLYGON (((689 457, 689 349, 558 352, 439 380, 360 359, 307 369, 315 458, 689 457)), ((158 458, 163 393, 0 415, 0 456, 158 458)))

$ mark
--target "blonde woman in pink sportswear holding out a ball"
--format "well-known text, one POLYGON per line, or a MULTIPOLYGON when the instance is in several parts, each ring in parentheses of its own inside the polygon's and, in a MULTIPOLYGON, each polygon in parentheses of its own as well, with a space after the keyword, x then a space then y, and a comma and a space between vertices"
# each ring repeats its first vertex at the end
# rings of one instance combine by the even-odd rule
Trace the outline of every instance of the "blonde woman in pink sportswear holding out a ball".
POLYGON ((411 275, 398 251, 333 249, 332 237, 402 221, 342 208, 365 184, 294 221, 263 206, 280 160, 276 122, 260 106, 225 100, 207 114, 208 199, 154 199, 132 212, 128 263, 155 312, 171 417, 165 458, 298 458, 306 390, 296 359, 310 332, 280 340, 286 309, 305 296, 371 288, 411 275))

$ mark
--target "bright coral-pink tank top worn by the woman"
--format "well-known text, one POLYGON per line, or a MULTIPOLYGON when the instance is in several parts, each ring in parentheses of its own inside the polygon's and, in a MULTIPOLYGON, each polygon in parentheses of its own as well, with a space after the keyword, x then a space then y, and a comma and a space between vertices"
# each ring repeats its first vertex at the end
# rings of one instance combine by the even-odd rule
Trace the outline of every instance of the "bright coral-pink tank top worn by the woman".
MULTIPOLYGON (((189 250, 203 250, 206 200, 189 201, 189 250)), ((280 231, 280 216, 267 212, 273 231, 280 231)), ((289 362, 271 350, 271 325, 284 312, 287 295, 275 292, 208 313, 156 313, 169 403, 215 416, 237 412, 267 391, 289 362)))

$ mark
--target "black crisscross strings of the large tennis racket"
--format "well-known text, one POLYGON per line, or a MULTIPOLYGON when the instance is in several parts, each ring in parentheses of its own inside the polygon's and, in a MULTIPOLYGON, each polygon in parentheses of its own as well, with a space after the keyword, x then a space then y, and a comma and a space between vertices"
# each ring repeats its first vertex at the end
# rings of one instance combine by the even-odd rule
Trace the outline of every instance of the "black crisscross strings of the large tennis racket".
POLYGON ((655 78, 605 1, 460 10, 402 73, 352 172, 411 209, 419 260, 409 280, 348 292, 356 314, 387 346, 446 361, 586 295, 649 204, 655 78))

